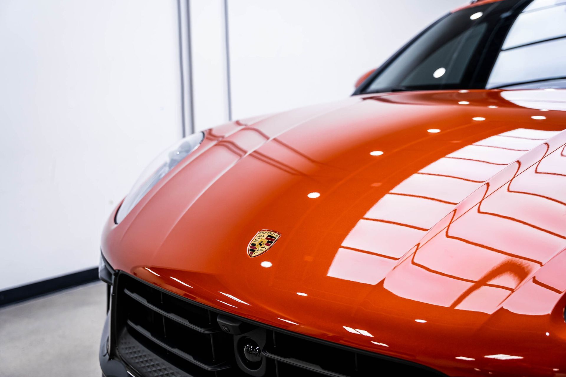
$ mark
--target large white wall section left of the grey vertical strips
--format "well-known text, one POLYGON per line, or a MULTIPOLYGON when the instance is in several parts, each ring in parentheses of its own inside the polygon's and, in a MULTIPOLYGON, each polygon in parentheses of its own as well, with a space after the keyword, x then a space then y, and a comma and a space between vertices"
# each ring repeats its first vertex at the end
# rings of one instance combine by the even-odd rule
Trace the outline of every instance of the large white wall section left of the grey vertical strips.
POLYGON ((181 136, 177 2, 0 3, 0 290, 98 264, 102 225, 181 136))

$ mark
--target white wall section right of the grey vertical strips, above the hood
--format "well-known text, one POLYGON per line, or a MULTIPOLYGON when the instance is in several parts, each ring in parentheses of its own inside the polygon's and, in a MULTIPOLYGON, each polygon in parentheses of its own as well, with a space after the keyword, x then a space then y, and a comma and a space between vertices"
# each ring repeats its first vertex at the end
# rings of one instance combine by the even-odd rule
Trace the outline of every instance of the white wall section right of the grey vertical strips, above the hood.
POLYGON ((359 76, 464 3, 230 0, 233 117, 348 97, 359 76))

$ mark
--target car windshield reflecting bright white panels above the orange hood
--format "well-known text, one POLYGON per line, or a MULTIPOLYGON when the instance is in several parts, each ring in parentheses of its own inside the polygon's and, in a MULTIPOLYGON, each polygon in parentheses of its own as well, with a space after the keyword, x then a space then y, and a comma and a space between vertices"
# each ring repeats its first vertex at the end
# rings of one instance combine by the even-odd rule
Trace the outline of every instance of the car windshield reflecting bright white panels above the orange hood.
POLYGON ((566 88, 566 0, 502 0, 440 19, 357 93, 566 88))

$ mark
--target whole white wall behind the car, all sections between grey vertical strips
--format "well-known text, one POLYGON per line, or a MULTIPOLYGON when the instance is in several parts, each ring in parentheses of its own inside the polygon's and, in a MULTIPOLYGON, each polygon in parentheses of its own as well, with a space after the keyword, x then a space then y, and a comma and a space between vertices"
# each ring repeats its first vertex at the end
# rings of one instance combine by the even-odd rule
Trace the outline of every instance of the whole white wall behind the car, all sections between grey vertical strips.
MULTIPOLYGON (((233 119, 345 98, 462 0, 229 0, 233 119)), ((228 120, 224 0, 190 0, 195 128, 228 120)), ((94 267, 181 137, 175 0, 0 2, 0 290, 94 267)))

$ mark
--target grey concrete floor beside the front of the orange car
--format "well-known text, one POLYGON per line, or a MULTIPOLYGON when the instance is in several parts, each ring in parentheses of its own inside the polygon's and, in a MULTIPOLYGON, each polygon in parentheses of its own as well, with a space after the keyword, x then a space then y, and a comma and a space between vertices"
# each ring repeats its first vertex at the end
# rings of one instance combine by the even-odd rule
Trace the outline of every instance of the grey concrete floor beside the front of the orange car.
POLYGON ((0 377, 100 377, 105 317, 100 282, 0 309, 0 377))

